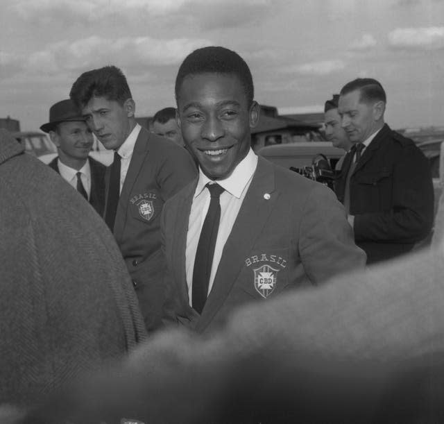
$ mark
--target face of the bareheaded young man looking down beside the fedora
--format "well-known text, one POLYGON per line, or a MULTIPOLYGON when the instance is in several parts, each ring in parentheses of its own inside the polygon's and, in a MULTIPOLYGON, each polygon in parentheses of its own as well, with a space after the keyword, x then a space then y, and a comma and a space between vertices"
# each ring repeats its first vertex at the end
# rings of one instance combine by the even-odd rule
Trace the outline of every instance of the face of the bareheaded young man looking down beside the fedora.
POLYGON ((123 105, 105 97, 92 97, 82 108, 82 115, 105 149, 117 150, 126 140, 132 128, 134 102, 128 99, 123 105))

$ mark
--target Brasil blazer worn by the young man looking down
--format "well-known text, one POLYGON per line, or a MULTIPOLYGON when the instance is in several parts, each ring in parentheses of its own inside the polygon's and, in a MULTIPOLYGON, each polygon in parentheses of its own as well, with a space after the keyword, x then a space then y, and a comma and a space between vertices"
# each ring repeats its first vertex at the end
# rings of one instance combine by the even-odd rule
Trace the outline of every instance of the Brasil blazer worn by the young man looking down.
MULTIPOLYGON (((160 214, 168 198, 196 176, 186 149, 142 127, 121 189, 114 237, 133 280, 148 330, 160 326, 165 261, 160 241, 160 214)), ((105 211, 110 167, 105 173, 105 211)))

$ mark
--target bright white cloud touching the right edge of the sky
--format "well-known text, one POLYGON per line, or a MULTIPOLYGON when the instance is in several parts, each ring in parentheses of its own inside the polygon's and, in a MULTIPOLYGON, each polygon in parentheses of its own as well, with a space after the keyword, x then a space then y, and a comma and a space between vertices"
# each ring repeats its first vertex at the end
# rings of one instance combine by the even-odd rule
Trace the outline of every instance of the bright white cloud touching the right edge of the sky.
POLYGON ((444 26, 396 28, 388 33, 388 45, 392 49, 444 49, 444 26))

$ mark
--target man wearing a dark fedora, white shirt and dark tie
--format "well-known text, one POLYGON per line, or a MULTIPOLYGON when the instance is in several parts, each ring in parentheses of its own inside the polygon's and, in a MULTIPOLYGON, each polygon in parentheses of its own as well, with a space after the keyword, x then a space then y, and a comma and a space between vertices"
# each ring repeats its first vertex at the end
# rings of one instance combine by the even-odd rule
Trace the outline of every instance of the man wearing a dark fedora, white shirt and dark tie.
POLYGON ((49 109, 49 122, 40 127, 49 133, 58 156, 49 167, 60 173, 100 215, 105 205, 105 165, 89 157, 94 138, 74 103, 59 101, 49 109))

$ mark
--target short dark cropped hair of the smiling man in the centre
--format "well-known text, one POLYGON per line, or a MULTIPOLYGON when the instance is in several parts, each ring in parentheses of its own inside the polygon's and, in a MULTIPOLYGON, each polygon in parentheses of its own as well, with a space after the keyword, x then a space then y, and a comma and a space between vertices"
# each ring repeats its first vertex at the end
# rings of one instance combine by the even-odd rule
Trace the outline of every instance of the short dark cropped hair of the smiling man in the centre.
POLYGON ((185 77, 196 74, 232 74, 244 86, 248 105, 253 103, 255 88, 250 68, 235 51, 221 46, 208 46, 190 53, 180 65, 176 77, 176 100, 185 77))

